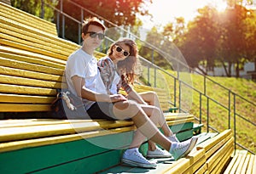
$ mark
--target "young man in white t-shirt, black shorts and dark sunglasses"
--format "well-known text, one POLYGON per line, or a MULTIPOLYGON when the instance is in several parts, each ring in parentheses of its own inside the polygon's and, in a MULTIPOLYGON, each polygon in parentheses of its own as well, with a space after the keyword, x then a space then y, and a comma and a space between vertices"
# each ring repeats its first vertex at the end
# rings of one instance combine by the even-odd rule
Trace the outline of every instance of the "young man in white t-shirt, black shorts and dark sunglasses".
MULTIPOLYGON (((183 143, 172 143, 154 126, 139 104, 121 94, 108 94, 97 68, 96 58, 93 56, 95 49, 102 43, 104 31, 105 26, 96 18, 84 22, 83 46, 67 59, 65 73, 68 89, 83 99, 84 108, 91 119, 131 119, 138 131, 169 151, 175 160, 189 154, 195 147, 197 138, 191 138, 183 143)), ((145 159, 138 152, 132 152, 123 161, 133 166, 156 167, 154 162, 145 159)))

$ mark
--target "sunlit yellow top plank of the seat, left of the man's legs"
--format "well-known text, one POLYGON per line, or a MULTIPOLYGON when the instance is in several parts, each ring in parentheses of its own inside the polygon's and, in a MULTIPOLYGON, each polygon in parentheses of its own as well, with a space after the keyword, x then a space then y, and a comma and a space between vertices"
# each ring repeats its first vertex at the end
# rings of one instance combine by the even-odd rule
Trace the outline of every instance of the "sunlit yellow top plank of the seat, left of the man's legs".
POLYGON ((44 138, 49 136, 74 134, 78 132, 90 132, 102 129, 110 129, 120 126, 131 126, 132 121, 113 122, 113 121, 90 121, 73 122, 70 124, 58 125, 37 125, 37 126, 19 126, 4 127, 0 129, 0 142, 15 141, 29 138, 44 138), (111 123, 111 124, 110 124, 111 123))

